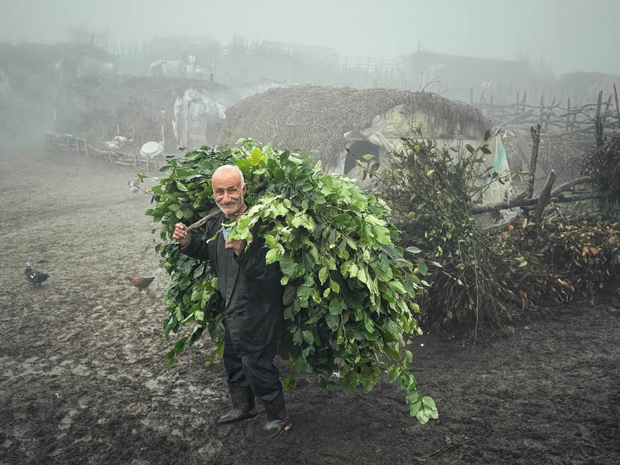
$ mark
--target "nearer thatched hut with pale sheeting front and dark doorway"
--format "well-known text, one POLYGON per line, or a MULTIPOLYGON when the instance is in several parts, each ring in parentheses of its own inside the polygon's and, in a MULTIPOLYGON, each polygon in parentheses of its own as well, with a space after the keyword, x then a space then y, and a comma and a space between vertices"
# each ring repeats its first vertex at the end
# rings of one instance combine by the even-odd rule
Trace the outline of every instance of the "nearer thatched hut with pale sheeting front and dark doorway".
MULTIPOLYGON (((299 86, 271 89, 244 99, 226 111, 219 134, 254 137, 281 148, 300 149, 322 162, 325 172, 360 177, 355 159, 375 159, 402 147, 402 136, 422 127, 440 146, 479 145, 492 123, 471 105, 427 92, 395 89, 299 86)), ((220 142, 229 142, 220 136, 220 142)), ((508 169, 501 138, 494 137, 487 158, 499 173, 508 169)), ((486 193, 500 200, 506 189, 486 193)))

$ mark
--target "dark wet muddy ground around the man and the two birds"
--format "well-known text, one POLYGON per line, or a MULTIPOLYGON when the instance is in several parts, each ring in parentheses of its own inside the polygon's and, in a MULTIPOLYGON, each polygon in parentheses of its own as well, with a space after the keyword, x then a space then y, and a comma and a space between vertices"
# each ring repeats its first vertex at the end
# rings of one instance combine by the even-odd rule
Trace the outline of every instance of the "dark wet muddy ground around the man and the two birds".
POLYGON ((553 309, 510 338, 417 338, 420 391, 440 411, 426 426, 398 386, 327 392, 311 377, 287 393, 293 428, 278 440, 255 439, 262 419, 216 426, 227 392, 223 366, 204 366, 206 338, 165 364, 166 277, 131 178, 0 157, 0 463, 618 463, 614 298, 553 309), (40 288, 27 260, 51 275, 40 288), (127 274, 155 276, 150 296, 127 274))

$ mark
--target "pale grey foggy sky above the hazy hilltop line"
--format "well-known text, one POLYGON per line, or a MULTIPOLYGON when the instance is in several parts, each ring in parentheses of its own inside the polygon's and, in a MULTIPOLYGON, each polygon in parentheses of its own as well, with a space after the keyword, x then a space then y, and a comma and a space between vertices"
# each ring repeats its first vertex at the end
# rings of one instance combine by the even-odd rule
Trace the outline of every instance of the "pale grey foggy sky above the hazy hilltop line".
POLYGON ((620 0, 0 0, 0 40, 54 42, 71 26, 117 43, 165 35, 326 45, 339 54, 417 50, 542 59, 557 73, 620 74, 620 0))

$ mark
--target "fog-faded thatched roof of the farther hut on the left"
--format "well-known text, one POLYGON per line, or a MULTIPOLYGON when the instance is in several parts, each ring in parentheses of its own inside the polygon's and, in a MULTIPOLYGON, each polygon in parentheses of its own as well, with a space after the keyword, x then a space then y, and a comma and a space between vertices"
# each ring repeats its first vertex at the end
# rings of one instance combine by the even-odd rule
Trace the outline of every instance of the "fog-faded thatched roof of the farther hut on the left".
POLYGON ((173 140, 174 101, 187 89, 202 90, 229 106, 238 95, 227 85, 193 79, 158 79, 145 76, 83 76, 65 85, 56 97, 56 131, 101 139, 132 130, 136 138, 159 140, 161 124, 173 140), (164 113, 162 113, 164 112, 164 113))

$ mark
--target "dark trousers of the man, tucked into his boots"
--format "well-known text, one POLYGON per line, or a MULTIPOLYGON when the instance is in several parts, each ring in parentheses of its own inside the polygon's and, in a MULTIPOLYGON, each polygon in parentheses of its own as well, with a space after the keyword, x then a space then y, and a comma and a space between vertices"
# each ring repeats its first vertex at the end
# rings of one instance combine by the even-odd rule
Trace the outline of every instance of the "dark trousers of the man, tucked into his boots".
POLYGON ((240 355, 228 327, 225 329, 223 359, 228 382, 238 386, 251 386, 256 397, 267 402, 273 401, 282 391, 280 371, 273 364, 277 341, 261 351, 240 355))

